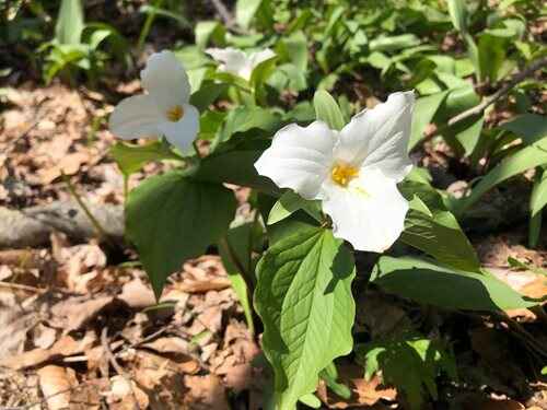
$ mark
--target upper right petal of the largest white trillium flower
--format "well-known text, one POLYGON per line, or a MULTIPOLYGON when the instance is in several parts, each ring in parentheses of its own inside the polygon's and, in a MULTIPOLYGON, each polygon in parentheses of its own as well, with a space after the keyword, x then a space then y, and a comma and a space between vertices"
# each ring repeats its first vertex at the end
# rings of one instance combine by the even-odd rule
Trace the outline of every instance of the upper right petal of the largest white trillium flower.
POLYGON ((400 181, 412 166, 407 147, 414 102, 412 91, 394 93, 356 115, 340 131, 335 156, 363 169, 377 167, 400 181))

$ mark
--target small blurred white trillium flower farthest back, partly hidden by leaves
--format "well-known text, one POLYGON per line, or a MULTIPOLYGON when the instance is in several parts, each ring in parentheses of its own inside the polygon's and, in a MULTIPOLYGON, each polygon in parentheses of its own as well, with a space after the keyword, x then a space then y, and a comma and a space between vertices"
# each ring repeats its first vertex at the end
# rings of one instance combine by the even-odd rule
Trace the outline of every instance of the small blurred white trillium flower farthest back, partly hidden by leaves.
POLYGON ((221 63, 219 66, 220 71, 230 72, 247 81, 251 80, 251 75, 256 66, 276 56, 269 48, 252 52, 248 56, 242 50, 232 47, 208 48, 206 52, 221 63))

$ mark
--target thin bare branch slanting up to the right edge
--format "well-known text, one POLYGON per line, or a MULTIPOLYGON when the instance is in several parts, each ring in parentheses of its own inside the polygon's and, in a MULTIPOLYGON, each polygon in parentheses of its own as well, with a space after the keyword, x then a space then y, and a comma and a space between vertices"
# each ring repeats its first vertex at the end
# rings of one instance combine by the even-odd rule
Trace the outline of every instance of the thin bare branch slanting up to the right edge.
POLYGON ((480 104, 476 105, 475 107, 466 109, 465 112, 459 113, 458 115, 452 117, 451 119, 449 119, 446 125, 437 128, 431 133, 428 133, 423 139, 421 139, 421 141, 419 143, 423 143, 426 141, 429 141, 430 139, 438 136, 439 133, 442 133, 447 128, 453 127, 456 124, 462 122, 463 120, 465 120, 467 118, 470 118, 473 116, 481 114, 490 105, 496 103, 498 99, 503 97, 505 94, 509 94, 509 92, 511 90, 513 90, 513 87, 515 85, 517 85, 520 82, 522 82, 524 79, 526 79, 527 77, 532 75, 537 70, 540 70, 545 67, 547 67, 547 57, 534 61, 526 69, 514 74, 514 77, 504 86, 502 86, 500 90, 498 90, 496 93, 485 97, 482 99, 482 102, 480 104))

